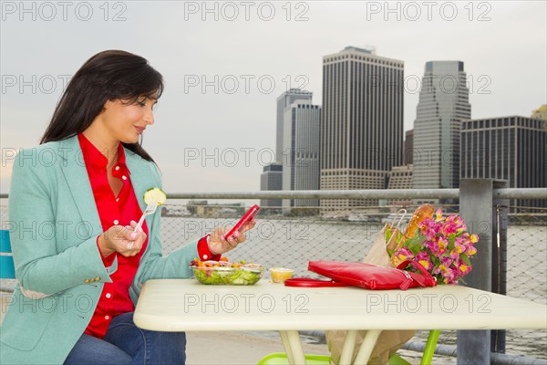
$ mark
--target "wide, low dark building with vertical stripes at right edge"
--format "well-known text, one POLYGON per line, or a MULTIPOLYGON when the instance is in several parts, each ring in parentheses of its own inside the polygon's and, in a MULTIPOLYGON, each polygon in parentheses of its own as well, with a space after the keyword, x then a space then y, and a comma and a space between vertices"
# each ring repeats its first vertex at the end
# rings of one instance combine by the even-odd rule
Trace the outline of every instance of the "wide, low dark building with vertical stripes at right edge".
MULTIPOLYGON (((507 180, 510 188, 547 187, 546 143, 547 120, 466 120, 461 130, 461 177, 507 180)), ((519 206, 544 208, 547 201, 511 199, 510 205, 511 212, 519 212, 519 206)))

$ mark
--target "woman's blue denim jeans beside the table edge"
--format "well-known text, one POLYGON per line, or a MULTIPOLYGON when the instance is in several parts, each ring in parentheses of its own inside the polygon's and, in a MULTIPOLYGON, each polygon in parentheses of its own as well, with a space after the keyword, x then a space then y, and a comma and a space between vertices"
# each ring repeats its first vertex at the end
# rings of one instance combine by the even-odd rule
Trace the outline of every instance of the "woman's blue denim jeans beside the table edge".
POLYGON ((115 317, 104 339, 83 334, 68 354, 65 365, 154 365, 186 362, 186 334, 141 329, 133 313, 115 317))

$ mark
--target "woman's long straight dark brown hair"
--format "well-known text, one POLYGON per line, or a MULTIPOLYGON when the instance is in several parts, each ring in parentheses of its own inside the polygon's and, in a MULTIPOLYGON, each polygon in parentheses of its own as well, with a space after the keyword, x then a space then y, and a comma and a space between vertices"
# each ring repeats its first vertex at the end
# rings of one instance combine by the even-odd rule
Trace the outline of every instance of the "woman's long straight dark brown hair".
MULTIPOLYGON (((163 78, 140 56, 107 50, 91 57, 68 82, 40 143, 60 141, 87 130, 107 100, 160 98, 163 78)), ((130 151, 152 161, 140 143, 123 143, 130 151)))

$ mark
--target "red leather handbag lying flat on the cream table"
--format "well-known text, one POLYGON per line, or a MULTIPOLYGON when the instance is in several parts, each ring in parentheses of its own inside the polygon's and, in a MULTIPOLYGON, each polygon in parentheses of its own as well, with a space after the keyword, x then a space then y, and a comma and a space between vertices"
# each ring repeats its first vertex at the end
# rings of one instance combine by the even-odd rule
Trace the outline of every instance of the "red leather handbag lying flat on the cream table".
POLYGON ((294 278, 285 280, 289 287, 334 287, 352 286, 371 290, 401 289, 409 287, 435 287, 437 280, 424 266, 415 261, 404 261, 397 268, 376 266, 365 263, 347 263, 340 261, 310 261, 308 270, 330 277, 333 281, 294 278), (402 268, 414 266, 421 274, 402 268))

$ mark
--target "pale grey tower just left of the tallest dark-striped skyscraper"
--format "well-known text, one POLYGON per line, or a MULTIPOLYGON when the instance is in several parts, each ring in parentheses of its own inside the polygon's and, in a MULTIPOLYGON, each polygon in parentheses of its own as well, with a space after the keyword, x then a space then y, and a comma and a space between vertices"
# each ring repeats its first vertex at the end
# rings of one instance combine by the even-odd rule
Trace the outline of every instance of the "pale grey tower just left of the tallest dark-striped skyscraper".
MULTIPOLYGON (((284 110, 283 190, 319 190, 321 107, 295 99, 284 110)), ((318 206, 316 199, 284 200, 285 208, 318 206)))

